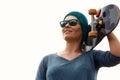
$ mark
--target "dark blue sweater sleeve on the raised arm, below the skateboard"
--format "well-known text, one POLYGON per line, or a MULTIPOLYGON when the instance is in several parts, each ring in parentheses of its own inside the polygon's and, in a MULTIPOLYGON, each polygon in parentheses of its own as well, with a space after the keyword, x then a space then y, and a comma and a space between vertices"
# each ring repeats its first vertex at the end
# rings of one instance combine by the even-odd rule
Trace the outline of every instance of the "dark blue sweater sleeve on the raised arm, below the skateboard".
POLYGON ((112 55, 109 51, 95 51, 96 67, 111 67, 120 63, 120 57, 112 55))

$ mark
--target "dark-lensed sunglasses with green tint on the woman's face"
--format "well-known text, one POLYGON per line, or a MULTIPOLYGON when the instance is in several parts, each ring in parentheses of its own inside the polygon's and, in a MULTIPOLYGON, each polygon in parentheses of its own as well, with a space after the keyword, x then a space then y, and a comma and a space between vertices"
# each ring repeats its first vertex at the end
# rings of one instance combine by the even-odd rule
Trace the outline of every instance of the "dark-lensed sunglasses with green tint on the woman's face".
POLYGON ((60 26, 63 28, 68 23, 70 26, 76 26, 79 21, 77 19, 63 20, 60 22, 60 26))

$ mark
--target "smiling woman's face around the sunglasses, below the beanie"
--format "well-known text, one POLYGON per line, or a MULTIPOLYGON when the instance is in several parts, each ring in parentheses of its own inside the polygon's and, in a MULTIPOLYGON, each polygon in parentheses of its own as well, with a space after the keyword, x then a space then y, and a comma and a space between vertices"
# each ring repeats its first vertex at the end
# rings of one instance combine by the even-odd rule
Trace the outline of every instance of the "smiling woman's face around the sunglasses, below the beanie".
MULTIPOLYGON (((67 16, 65 18, 65 20, 78 20, 75 16, 67 16)), ((77 22, 76 25, 71 25, 69 23, 67 23, 66 25, 63 26, 62 28, 62 34, 63 34, 63 38, 66 41, 69 40, 81 40, 82 38, 82 29, 81 29, 81 25, 79 22, 77 22)))

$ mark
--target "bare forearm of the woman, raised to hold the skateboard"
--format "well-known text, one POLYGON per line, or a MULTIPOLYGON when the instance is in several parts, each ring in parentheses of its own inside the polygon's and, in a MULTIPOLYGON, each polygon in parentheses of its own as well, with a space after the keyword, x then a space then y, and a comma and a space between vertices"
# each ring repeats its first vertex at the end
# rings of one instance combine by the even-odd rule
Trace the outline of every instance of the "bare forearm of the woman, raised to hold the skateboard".
POLYGON ((120 57, 120 42, 117 37, 111 32, 108 36, 108 42, 110 47, 110 52, 114 56, 120 57))

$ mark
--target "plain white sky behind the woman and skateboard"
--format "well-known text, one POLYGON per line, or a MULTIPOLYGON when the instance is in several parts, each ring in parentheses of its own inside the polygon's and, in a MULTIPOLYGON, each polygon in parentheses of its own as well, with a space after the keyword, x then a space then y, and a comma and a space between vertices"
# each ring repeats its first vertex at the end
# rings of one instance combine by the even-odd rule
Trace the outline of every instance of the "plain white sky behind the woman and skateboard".
MULTIPOLYGON (((88 10, 120 0, 1 0, 0 80, 35 80, 41 59, 65 47, 59 22, 70 11, 88 10)), ((120 40, 120 23, 113 31, 120 40)), ((95 48, 109 50, 106 37, 95 48)), ((120 65, 101 68, 98 80, 119 80, 120 65)))

